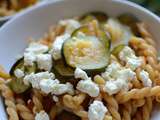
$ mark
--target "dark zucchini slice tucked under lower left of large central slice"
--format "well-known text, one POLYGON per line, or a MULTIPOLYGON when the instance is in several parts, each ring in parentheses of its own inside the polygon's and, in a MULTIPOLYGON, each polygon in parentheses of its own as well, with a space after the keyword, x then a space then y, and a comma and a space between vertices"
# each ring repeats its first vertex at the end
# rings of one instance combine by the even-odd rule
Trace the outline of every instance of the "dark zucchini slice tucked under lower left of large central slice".
POLYGON ((54 70, 64 78, 72 78, 74 76, 74 69, 65 64, 65 61, 54 61, 54 70))

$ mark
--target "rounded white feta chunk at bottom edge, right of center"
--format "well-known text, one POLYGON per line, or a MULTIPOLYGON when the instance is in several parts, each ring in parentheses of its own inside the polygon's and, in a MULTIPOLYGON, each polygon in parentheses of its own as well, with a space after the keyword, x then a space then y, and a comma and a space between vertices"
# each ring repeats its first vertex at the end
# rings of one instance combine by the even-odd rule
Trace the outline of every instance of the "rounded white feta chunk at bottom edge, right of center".
POLYGON ((88 118, 89 120, 103 120, 107 111, 107 108, 101 101, 95 100, 89 106, 88 118))

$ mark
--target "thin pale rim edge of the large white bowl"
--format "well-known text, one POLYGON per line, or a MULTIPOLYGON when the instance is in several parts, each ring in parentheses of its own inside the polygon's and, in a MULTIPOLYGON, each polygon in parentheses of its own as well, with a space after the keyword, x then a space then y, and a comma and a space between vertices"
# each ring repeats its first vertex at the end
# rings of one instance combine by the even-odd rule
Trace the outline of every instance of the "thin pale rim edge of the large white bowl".
MULTIPOLYGON (((6 16, 6 17, 2 17, 0 18, 0 20, 7 20, 7 19, 10 19, 9 21, 7 21, 1 28, 0 28, 0 32, 6 28, 9 24, 11 24, 13 21, 17 20, 18 18, 36 10, 36 9, 43 9, 43 7, 46 7, 48 6, 49 4, 54 4, 54 3, 60 3, 60 2, 66 2, 66 1, 70 1, 70 0, 47 0, 47 2, 41 2, 35 6, 31 6, 30 8, 18 13, 18 14, 15 14, 13 16, 6 16)), ((76 0, 75 0, 76 1, 76 0)), ((78 1, 78 0, 77 0, 78 1)), ((138 11, 141 11, 141 12, 144 12, 146 13, 148 16, 152 17, 154 20, 156 20, 158 23, 160 23, 160 17, 158 17, 155 13, 149 11, 148 9, 134 3, 134 2, 131 2, 131 1, 128 1, 128 0, 109 0, 111 2, 115 2, 115 3, 119 3, 119 4, 123 4, 123 5, 126 5, 126 6, 130 6, 130 7, 133 7, 135 9, 138 9, 138 11)))

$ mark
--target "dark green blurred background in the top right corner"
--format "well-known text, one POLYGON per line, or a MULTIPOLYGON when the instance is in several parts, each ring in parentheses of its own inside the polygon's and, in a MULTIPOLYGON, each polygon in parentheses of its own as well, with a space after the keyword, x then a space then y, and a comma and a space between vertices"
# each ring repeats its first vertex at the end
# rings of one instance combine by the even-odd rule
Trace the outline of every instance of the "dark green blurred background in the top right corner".
POLYGON ((160 16, 160 0, 129 0, 151 10, 160 16))

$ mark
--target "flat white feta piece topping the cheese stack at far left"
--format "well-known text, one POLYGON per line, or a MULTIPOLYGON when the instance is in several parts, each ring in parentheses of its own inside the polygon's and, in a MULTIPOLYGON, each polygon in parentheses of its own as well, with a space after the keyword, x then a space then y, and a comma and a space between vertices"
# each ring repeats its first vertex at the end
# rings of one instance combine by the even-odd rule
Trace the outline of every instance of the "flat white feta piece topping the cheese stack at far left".
POLYGON ((48 51, 48 46, 42 45, 37 42, 32 42, 29 44, 29 47, 25 49, 25 52, 32 52, 34 54, 41 54, 48 51))

